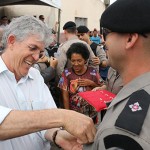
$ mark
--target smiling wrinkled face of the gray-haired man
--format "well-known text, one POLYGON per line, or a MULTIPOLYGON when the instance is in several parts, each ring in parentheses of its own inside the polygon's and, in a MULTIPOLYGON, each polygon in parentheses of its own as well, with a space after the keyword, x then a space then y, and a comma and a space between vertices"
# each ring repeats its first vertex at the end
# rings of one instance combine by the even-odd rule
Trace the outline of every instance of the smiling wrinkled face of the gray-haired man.
POLYGON ((38 36, 30 36, 22 42, 15 41, 11 46, 10 70, 17 80, 26 76, 31 66, 44 55, 44 43, 38 36))

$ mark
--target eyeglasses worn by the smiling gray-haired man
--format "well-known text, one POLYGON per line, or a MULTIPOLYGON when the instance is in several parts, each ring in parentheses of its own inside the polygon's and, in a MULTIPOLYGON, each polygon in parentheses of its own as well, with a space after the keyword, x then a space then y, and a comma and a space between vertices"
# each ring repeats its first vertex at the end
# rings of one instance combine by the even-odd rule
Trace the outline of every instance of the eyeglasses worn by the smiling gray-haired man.
MULTIPOLYGON (((25 43, 26 44, 26 43, 25 43)), ((33 53, 32 55, 39 55, 39 58, 42 58, 45 56, 44 50, 40 51, 39 48, 37 46, 34 45, 28 45, 26 44, 29 48, 29 50, 33 53)))

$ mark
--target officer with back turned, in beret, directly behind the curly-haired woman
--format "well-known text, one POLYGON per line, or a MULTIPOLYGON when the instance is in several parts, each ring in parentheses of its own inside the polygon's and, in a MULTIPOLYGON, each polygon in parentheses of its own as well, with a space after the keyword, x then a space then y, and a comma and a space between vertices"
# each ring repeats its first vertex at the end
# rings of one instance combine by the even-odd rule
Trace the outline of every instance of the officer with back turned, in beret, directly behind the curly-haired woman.
POLYGON ((64 68, 71 67, 70 62, 67 60, 66 52, 68 51, 71 44, 77 42, 82 42, 88 47, 90 52, 89 65, 96 67, 98 70, 98 65, 100 64, 100 60, 98 57, 95 58, 93 51, 91 50, 90 46, 86 42, 78 39, 78 37, 76 36, 76 32, 77 32, 76 24, 72 21, 68 21, 63 26, 63 30, 67 41, 62 43, 59 46, 57 54, 55 54, 55 57, 58 59, 57 75, 60 77, 62 72, 64 71, 64 68))

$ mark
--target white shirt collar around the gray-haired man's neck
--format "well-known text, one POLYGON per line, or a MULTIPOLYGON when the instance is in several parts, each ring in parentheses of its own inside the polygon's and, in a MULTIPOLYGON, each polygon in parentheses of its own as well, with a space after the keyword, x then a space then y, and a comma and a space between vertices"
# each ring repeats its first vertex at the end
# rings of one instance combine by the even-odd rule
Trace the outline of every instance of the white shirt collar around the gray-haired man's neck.
MULTIPOLYGON (((2 57, 0 56, 0 74, 5 71, 10 71, 10 70, 7 68, 2 57)), ((21 79, 27 80, 28 78, 33 79, 33 76, 31 75, 30 71, 28 72, 28 74, 26 76, 22 77, 21 79)))

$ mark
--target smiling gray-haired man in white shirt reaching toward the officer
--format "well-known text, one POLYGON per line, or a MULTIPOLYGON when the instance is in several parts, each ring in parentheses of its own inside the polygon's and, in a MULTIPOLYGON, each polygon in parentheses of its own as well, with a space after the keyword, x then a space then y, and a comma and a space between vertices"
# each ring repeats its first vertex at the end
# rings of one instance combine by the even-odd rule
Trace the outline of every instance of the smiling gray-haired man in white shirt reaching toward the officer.
POLYGON ((46 25, 30 16, 16 18, 5 28, 0 56, 3 150, 49 150, 49 141, 66 150, 81 149, 80 143, 94 139, 92 120, 57 109, 40 72, 32 67, 44 55, 50 37, 46 25))

